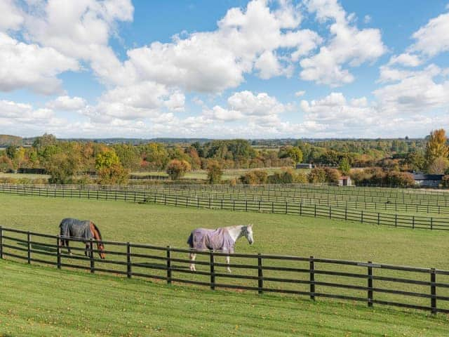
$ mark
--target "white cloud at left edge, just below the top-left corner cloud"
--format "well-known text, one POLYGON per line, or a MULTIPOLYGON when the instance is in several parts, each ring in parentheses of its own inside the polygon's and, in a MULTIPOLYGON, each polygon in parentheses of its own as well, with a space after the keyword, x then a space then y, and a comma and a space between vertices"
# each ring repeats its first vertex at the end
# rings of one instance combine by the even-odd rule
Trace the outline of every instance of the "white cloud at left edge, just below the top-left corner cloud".
POLYGON ((79 70, 79 64, 54 48, 25 44, 0 32, 0 91, 30 88, 36 93, 61 91, 58 74, 79 70))

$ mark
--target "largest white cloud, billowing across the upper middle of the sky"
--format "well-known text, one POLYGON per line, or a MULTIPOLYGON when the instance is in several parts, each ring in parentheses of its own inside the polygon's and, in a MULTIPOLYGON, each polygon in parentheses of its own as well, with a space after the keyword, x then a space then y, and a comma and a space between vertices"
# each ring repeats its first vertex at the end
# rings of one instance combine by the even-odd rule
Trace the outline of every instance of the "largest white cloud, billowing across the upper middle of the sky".
POLYGON ((254 69, 264 79, 290 74, 291 60, 321 43, 315 32, 299 29, 300 16, 290 1, 270 11, 267 1, 253 0, 246 11, 229 9, 213 32, 176 35, 170 43, 156 41, 128 51, 125 69, 137 81, 211 93, 239 86, 254 69), (281 58, 279 48, 289 53, 281 58))

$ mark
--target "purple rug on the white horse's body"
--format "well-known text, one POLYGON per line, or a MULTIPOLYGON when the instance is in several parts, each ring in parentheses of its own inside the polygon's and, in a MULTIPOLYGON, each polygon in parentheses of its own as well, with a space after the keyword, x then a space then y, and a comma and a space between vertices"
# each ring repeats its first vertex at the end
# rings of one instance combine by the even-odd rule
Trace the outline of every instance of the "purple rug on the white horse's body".
POLYGON ((194 249, 234 253, 235 242, 226 228, 217 228, 216 230, 196 228, 190 234, 187 244, 194 249))

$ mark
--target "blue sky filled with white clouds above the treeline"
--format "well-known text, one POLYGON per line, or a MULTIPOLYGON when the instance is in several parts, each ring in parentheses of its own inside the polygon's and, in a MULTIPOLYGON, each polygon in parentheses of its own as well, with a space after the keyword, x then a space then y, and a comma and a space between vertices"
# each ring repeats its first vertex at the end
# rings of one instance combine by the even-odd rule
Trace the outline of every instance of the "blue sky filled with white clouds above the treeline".
POLYGON ((449 128, 449 1, 0 0, 0 134, 449 128))

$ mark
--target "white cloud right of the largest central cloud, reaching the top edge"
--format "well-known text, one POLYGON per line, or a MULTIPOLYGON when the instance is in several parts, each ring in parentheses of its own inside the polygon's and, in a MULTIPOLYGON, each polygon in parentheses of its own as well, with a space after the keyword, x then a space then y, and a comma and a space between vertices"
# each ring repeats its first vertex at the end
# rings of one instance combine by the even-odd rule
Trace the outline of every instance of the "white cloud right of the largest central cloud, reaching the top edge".
POLYGON ((331 39, 319 53, 300 61, 301 79, 318 84, 340 86, 354 81, 354 76, 344 65, 356 67, 373 62, 387 51, 379 29, 358 29, 351 25, 351 15, 346 15, 337 0, 309 0, 310 13, 316 13, 319 22, 333 20, 331 39))

